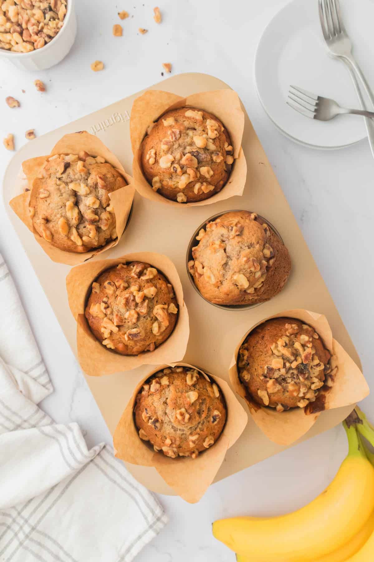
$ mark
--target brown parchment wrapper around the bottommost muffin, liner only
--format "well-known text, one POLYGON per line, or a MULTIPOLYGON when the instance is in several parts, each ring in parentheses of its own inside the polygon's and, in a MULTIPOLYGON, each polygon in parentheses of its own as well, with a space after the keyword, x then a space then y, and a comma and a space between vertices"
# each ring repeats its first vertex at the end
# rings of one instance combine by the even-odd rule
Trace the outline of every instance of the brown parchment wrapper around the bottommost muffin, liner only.
POLYGON ((239 404, 232 389, 230 389, 225 380, 188 363, 177 362, 159 365, 137 384, 114 431, 114 452, 118 459, 128 463, 154 466, 164 481, 173 488, 178 496, 181 496, 183 500, 188 501, 190 504, 195 504, 204 496, 207 488, 213 482, 219 467, 223 463, 226 451, 241 436, 247 422, 248 416, 244 408, 239 404), (212 447, 200 453, 196 459, 191 459, 190 457, 170 459, 170 457, 155 452, 140 439, 133 420, 136 396, 145 380, 161 369, 176 365, 191 367, 192 369, 197 369, 203 375, 208 375, 221 388, 226 401, 227 420, 218 441, 212 447))

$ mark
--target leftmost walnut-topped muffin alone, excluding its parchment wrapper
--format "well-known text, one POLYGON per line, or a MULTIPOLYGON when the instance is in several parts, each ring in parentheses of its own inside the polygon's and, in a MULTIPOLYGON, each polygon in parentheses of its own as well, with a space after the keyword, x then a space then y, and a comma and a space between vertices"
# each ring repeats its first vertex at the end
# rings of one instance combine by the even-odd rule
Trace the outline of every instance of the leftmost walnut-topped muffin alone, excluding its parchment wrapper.
POLYGON ((101 156, 50 156, 30 196, 33 225, 47 242, 66 252, 88 252, 117 238, 109 193, 126 185, 101 156))

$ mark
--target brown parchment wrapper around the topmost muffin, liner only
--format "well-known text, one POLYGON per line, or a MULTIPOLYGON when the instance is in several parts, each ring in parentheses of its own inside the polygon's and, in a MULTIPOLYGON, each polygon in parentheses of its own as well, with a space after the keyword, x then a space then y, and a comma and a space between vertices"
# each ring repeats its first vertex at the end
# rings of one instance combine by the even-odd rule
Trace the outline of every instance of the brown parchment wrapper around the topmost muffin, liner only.
POLYGON ((200 92, 186 98, 170 92, 163 92, 162 90, 147 90, 147 92, 135 99, 131 108, 130 135, 134 155, 132 173, 136 191, 142 197, 146 197, 151 201, 178 207, 211 205, 211 203, 223 201, 234 195, 242 195, 247 176, 246 157, 241 147, 243 130, 244 113, 239 96, 232 89, 200 92), (195 203, 178 203, 153 191, 152 186, 143 175, 141 166, 140 145, 148 126, 157 121, 165 112, 185 106, 196 107, 216 115, 228 130, 234 149, 234 165, 227 183, 215 195, 195 203))

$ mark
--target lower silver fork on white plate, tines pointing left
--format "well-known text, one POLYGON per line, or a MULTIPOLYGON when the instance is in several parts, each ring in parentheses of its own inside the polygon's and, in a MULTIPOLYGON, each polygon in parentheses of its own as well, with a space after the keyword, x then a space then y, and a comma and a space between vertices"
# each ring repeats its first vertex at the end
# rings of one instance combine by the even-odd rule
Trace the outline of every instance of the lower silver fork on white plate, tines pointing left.
POLYGON ((354 114, 363 115, 366 117, 374 117, 374 111, 366 111, 362 109, 347 109, 341 107, 334 99, 316 96, 307 90, 298 88, 297 86, 290 86, 288 91, 288 99, 292 100, 287 102, 287 105, 292 107, 306 117, 311 119, 318 119, 320 121, 329 121, 334 119, 336 115, 341 114, 354 114))

